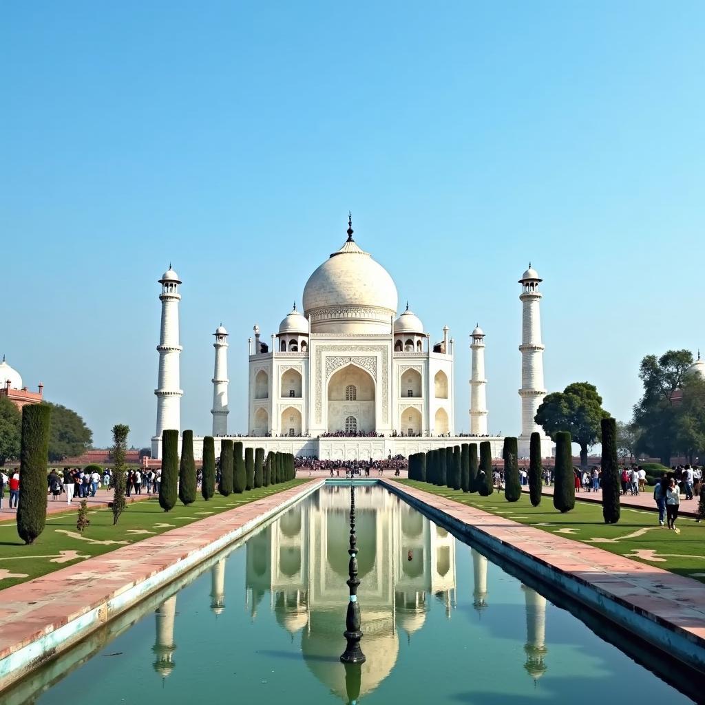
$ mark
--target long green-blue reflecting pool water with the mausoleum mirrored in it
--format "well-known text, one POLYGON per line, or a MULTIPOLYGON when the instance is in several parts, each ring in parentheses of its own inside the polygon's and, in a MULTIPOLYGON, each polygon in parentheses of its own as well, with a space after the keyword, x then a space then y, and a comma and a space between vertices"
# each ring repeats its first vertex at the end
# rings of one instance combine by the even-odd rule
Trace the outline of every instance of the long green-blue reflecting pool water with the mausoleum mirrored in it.
POLYGON ((367 661, 347 684, 343 485, 309 496, 2 701, 335 703, 348 702, 352 682, 370 705, 690 702, 382 487, 355 494, 367 661))

